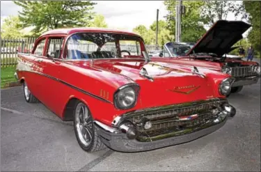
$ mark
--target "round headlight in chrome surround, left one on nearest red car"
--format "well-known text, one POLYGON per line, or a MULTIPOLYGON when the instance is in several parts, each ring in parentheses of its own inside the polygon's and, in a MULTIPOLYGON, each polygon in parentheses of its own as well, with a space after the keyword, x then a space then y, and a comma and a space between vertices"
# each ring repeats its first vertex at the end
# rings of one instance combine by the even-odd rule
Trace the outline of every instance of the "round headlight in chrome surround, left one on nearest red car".
POLYGON ((114 104, 117 109, 130 109, 135 106, 139 94, 138 84, 122 86, 114 94, 114 104))

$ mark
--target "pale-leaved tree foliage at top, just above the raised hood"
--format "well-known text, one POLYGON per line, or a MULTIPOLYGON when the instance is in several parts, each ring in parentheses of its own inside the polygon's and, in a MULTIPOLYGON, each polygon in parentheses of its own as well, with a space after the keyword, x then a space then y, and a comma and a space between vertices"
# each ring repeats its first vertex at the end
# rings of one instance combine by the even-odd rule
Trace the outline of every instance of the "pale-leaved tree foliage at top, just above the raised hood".
POLYGON ((226 19, 228 13, 237 17, 244 13, 242 1, 203 1, 204 4, 200 10, 202 17, 209 20, 209 25, 213 25, 216 20, 226 19))

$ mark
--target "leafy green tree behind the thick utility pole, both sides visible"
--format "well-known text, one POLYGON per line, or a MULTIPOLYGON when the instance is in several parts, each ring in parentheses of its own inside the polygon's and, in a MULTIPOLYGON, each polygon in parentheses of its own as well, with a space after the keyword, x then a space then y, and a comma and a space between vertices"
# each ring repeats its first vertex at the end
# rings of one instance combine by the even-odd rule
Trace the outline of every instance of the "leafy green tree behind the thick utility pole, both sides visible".
MULTIPOLYGON (((166 16, 168 23, 168 30, 172 35, 175 35, 175 4, 176 1, 166 0, 164 4, 168 10, 166 16)), ((186 6, 186 14, 182 15, 181 29, 182 29, 182 41, 184 42, 196 42, 206 32, 204 24, 209 22, 208 19, 200 17, 200 8, 204 5, 204 1, 183 1, 183 5, 186 6)))

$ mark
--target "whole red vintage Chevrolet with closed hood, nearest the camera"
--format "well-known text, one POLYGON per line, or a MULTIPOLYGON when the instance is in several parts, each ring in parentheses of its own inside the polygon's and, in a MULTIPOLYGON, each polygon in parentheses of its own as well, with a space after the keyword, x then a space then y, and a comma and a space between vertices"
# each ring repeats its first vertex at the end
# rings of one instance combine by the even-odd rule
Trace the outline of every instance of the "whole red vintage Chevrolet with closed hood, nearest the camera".
POLYGON ((126 31, 47 31, 31 54, 18 54, 15 77, 26 102, 40 101, 61 120, 73 121, 79 146, 88 152, 105 146, 139 152, 192 141, 236 113, 226 100, 232 77, 152 62, 143 38, 126 31), (83 48, 86 42, 96 49, 83 48), (126 42, 136 49, 124 49, 126 42), (116 51, 104 51, 108 46, 116 51))

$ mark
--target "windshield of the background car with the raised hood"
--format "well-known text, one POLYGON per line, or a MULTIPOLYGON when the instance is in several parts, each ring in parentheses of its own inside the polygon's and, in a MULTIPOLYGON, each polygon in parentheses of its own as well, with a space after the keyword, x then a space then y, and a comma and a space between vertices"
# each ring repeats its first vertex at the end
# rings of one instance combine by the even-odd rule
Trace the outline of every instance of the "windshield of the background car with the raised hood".
POLYGON ((169 52, 171 52, 172 56, 182 56, 187 54, 189 52, 189 47, 188 45, 175 45, 172 42, 166 44, 166 48, 168 49, 169 52))

